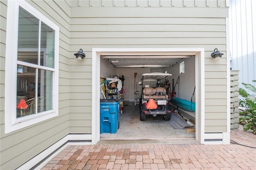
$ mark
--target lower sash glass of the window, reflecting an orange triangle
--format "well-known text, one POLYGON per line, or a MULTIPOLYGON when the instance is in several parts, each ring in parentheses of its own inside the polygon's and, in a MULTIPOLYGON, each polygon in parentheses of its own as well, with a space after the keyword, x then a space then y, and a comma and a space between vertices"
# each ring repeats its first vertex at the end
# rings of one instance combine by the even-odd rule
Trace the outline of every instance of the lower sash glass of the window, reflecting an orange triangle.
POLYGON ((36 68, 18 65, 17 117, 53 109, 52 78, 52 71, 38 69, 36 83, 36 68))

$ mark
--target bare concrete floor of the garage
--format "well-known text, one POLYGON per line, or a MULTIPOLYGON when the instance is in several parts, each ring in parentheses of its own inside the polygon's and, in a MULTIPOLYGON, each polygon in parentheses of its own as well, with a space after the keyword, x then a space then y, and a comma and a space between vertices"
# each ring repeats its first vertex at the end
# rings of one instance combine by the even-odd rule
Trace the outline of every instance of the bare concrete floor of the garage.
POLYGON ((198 144, 195 133, 187 133, 186 129, 173 129, 161 115, 149 115, 146 121, 140 121, 139 105, 134 106, 134 102, 124 102, 119 122, 117 133, 100 134, 98 144, 198 144))

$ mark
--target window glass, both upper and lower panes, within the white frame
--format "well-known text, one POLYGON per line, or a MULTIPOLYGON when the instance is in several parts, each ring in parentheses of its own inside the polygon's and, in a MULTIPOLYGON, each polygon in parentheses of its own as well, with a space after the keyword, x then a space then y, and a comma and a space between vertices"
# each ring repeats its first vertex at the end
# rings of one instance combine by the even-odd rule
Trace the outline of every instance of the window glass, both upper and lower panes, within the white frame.
POLYGON ((19 7, 17 118, 53 109, 54 42, 55 30, 19 7))

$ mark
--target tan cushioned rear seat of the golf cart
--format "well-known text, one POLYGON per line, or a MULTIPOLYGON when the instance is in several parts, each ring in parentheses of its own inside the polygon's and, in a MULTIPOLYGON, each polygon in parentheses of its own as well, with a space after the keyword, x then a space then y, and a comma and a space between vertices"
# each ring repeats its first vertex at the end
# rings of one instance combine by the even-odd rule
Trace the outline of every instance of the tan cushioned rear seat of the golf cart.
POLYGON ((143 98, 144 99, 168 99, 168 95, 166 95, 166 89, 163 87, 157 87, 157 88, 151 88, 147 87, 143 89, 143 98), (158 92, 158 95, 156 95, 156 92, 158 92), (160 95, 160 92, 163 93, 163 95, 160 95))

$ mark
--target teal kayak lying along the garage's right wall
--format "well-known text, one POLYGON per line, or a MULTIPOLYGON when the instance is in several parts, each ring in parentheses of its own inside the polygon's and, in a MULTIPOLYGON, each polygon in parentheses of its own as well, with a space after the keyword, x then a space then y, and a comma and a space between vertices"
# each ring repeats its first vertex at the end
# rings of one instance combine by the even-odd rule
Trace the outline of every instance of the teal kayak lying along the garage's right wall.
POLYGON ((175 106, 184 109, 186 111, 192 111, 195 112, 196 111, 196 103, 194 102, 190 102, 188 100, 184 100, 184 99, 180 99, 180 98, 171 98, 170 102, 172 104, 174 104, 175 106))

